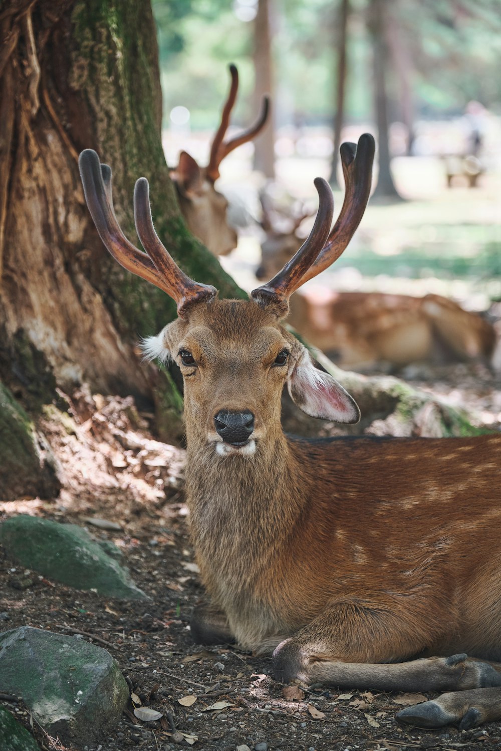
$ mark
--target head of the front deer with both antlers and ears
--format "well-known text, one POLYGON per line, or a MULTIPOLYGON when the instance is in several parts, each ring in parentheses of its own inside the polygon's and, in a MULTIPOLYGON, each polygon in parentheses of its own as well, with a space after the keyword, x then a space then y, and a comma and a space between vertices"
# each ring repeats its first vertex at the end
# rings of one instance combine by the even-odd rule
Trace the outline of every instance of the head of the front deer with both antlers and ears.
POLYGON ((293 258, 249 301, 218 300, 216 289, 189 279, 161 244, 149 209, 148 182, 134 189, 137 234, 147 254, 131 245, 113 212, 110 168, 87 149, 80 173, 87 205, 107 249, 122 266, 163 289, 177 302, 179 317, 145 352, 175 360, 185 382, 189 450, 251 456, 273 443, 281 428, 280 395, 286 383, 292 399, 314 417, 354 423, 358 406, 343 387, 315 368, 306 348, 282 325, 288 300, 338 258, 358 226, 370 193, 374 140, 370 135, 343 144, 346 198, 330 231, 333 198, 324 179, 315 179, 318 213, 309 237, 293 258), (355 156, 356 154, 356 156, 355 156))

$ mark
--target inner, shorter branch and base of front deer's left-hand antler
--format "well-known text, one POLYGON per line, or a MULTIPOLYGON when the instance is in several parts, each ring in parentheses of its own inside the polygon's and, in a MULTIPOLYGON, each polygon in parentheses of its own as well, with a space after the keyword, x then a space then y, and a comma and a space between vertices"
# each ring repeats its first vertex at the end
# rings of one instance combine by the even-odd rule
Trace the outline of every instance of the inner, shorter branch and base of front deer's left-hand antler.
POLYGON ((216 288, 198 284, 186 276, 162 245, 153 227, 146 177, 140 177, 134 188, 134 221, 137 235, 168 288, 166 291, 177 302, 178 315, 183 315, 192 303, 216 296, 216 288))

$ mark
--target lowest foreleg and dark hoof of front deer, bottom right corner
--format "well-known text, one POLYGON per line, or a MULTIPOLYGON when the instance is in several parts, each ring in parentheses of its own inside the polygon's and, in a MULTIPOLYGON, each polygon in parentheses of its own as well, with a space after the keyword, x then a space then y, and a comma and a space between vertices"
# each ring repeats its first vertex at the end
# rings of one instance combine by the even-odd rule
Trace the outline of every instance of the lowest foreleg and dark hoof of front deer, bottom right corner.
POLYGON ((433 701, 406 707, 397 719, 419 728, 441 728, 459 722, 460 730, 469 730, 482 722, 501 719, 501 688, 442 694, 433 701))

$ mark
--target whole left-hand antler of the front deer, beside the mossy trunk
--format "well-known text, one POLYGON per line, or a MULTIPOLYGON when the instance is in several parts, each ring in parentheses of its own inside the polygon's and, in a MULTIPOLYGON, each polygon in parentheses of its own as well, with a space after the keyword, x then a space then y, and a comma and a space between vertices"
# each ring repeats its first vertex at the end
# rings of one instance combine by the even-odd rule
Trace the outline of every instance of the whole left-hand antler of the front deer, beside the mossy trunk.
POLYGON ((110 167, 100 164, 98 155, 92 149, 86 149, 80 154, 79 164, 83 192, 95 227, 104 245, 119 264, 172 297, 177 303, 179 315, 186 312, 189 304, 217 294, 216 289, 210 285, 200 285, 189 279, 158 240, 152 225, 148 182, 145 178, 140 178, 136 183, 134 214, 137 234, 152 258, 127 240, 116 221, 110 167))

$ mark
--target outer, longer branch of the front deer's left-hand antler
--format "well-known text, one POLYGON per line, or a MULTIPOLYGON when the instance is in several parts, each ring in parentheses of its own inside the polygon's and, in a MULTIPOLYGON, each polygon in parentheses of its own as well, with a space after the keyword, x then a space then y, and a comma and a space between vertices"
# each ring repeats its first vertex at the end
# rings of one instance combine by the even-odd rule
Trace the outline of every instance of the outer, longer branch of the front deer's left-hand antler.
POLYGON ((99 237, 113 258, 128 271, 170 294, 151 259, 127 240, 116 221, 111 196, 110 167, 100 164, 98 155, 92 149, 85 149, 78 162, 86 204, 99 237))

